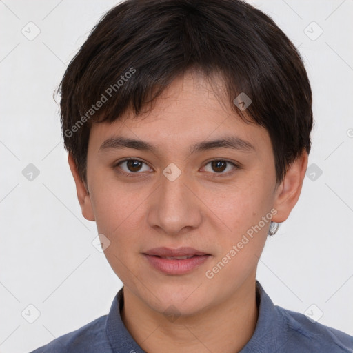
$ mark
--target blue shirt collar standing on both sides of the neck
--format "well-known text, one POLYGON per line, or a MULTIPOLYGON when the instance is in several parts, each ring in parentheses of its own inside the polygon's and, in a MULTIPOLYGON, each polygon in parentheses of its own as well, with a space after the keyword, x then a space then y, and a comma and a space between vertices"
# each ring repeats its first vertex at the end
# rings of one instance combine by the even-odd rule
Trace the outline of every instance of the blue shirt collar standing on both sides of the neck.
MULTIPOLYGON (((254 334, 239 353, 275 352, 285 345, 286 323, 283 316, 276 310, 274 303, 256 280, 256 303, 259 317, 254 334)), ((123 288, 114 297, 105 324, 105 332, 114 353, 130 352, 145 353, 132 338, 121 320, 121 309, 124 305, 123 288)))

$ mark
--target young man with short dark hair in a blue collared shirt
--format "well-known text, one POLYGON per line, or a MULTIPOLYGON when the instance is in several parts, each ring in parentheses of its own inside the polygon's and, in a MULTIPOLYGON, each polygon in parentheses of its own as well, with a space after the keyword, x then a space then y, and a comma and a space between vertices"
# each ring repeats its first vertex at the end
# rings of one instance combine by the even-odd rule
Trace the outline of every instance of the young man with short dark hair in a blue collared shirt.
POLYGON ((299 199, 312 129, 301 57, 238 0, 128 0, 61 82, 85 219, 123 282, 108 315, 34 352, 353 352, 256 281, 299 199))

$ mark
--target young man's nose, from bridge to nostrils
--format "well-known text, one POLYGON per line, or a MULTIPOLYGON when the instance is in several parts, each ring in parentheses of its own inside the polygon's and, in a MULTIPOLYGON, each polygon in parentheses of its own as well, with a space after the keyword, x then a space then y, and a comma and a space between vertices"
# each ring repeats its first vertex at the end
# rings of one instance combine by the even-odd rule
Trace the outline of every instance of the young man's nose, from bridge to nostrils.
MULTIPOLYGON (((168 175, 168 174, 166 174, 168 175)), ((148 211, 148 223, 161 233, 176 236, 198 228, 202 221, 201 201, 185 173, 177 179, 161 174, 160 185, 148 211)))

